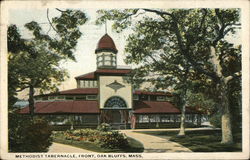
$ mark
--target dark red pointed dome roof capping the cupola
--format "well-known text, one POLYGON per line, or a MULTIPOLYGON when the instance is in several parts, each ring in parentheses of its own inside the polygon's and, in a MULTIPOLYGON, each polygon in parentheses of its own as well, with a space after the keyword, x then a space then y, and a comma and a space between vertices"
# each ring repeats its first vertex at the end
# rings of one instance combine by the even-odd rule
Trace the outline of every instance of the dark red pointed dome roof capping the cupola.
POLYGON ((99 40, 95 53, 99 53, 102 51, 110 51, 113 53, 118 52, 113 39, 107 33, 99 40))

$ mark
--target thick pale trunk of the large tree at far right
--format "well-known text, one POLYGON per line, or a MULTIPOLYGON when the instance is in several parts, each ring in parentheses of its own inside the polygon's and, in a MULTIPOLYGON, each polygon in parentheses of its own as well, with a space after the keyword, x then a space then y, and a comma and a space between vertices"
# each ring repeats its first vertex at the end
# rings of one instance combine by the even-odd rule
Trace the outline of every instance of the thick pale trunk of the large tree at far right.
POLYGON ((231 126, 231 115, 229 110, 229 102, 226 94, 226 89, 221 92, 222 98, 222 117, 221 117, 221 129, 222 129, 222 141, 223 144, 233 143, 233 134, 231 126))

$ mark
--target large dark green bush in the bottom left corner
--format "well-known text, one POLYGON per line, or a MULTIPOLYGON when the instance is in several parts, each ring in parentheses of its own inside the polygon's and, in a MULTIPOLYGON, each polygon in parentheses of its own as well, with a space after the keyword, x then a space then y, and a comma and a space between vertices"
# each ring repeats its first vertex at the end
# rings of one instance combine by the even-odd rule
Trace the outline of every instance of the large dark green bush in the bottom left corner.
POLYGON ((52 131, 42 118, 9 114, 10 152, 47 152, 52 144, 52 131))

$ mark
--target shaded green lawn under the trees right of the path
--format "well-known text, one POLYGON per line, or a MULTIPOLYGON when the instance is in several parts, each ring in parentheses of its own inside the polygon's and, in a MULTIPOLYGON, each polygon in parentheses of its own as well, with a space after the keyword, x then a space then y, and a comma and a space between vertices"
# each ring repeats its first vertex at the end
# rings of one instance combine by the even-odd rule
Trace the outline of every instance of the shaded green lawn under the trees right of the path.
POLYGON ((186 131, 185 137, 178 137, 178 131, 141 131, 139 133, 150 135, 170 136, 170 141, 179 143, 193 152, 241 152, 242 135, 234 134, 234 144, 221 144, 220 130, 186 131))

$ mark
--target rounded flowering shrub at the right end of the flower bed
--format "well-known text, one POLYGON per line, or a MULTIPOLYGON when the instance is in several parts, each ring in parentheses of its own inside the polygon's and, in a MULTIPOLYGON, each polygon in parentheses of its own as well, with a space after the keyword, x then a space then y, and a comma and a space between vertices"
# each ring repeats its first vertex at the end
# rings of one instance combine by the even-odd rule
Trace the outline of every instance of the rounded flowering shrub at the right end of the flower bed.
POLYGON ((127 137, 118 131, 102 132, 98 141, 101 147, 105 148, 126 148, 128 146, 127 137))

